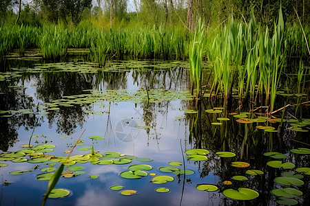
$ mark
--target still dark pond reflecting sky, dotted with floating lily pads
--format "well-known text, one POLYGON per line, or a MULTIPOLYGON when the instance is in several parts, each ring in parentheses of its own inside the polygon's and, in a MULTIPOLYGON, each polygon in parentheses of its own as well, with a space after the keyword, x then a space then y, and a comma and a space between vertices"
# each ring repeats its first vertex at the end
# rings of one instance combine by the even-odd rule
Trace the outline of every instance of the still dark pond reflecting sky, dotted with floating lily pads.
POLYGON ((70 194, 45 205, 309 205, 307 104, 300 121, 223 117, 190 94, 186 61, 12 57, 0 85, 1 205, 41 205, 72 148, 55 187, 70 194))

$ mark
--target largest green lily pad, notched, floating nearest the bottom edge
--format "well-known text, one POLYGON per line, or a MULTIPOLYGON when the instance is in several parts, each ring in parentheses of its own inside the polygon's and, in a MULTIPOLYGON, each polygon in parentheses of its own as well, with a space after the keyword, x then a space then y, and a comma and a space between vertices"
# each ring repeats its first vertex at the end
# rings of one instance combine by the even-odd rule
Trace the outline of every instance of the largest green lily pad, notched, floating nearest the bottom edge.
POLYGON ((253 200, 259 196, 258 192, 249 188, 239 187, 238 191, 234 189, 227 189, 223 191, 223 195, 228 198, 240 201, 253 200))

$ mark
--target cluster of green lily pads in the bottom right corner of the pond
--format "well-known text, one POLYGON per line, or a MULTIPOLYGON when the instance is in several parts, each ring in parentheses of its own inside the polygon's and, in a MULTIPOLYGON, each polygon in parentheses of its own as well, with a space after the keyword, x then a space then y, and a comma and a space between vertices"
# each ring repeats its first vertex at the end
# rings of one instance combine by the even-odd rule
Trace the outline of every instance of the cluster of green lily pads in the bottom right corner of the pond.
MULTIPOLYGON (((310 149, 297 148, 291 149, 291 152, 298 155, 310 155, 310 149)), ((287 155, 280 152, 265 152, 263 155, 272 159, 285 159, 287 155)), ((293 169, 295 165, 290 162, 282 162, 280 160, 268 161, 267 165, 271 168, 293 169)), ((310 168, 296 168, 295 172, 302 172, 303 174, 310 175, 310 168)), ((304 185, 304 178, 302 174, 296 174, 295 172, 282 172, 281 176, 278 176, 274 181, 282 186, 301 186, 304 185)), ((297 196, 302 196, 302 192, 293 187, 276 188, 271 190, 272 194, 278 197, 277 203, 282 205, 297 205, 298 201, 294 199, 297 196)))

